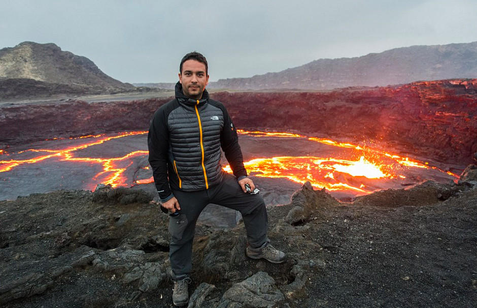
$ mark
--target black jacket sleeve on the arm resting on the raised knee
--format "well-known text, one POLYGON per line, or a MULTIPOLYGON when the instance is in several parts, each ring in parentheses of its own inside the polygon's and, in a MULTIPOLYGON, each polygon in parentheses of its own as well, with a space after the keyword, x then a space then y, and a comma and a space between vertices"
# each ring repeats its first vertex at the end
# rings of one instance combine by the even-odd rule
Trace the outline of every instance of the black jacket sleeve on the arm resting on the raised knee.
POLYGON ((232 119, 228 115, 227 109, 225 109, 222 104, 220 104, 220 108, 224 114, 224 128, 220 135, 220 145, 225 153, 225 158, 230 164, 233 175, 239 179, 240 177, 247 176, 247 170, 244 167, 242 150, 238 144, 237 131, 233 126, 232 119))

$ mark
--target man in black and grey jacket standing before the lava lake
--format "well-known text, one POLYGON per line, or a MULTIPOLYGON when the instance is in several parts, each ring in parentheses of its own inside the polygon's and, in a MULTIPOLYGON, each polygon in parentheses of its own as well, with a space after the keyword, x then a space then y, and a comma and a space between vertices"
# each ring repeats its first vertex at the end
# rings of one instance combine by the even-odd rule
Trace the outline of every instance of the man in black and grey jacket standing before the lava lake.
POLYGON ((209 203, 242 213, 248 257, 272 263, 285 260, 285 254, 269 243, 265 203, 247 191, 246 185, 252 192, 255 186, 247 177, 237 132, 225 107, 209 98, 208 82, 206 58, 198 52, 186 54, 179 67, 176 99, 155 112, 148 134, 149 163, 157 192, 162 206, 172 212, 169 260, 177 306, 189 300, 195 223, 209 203), (221 148, 233 175, 220 165, 221 148))

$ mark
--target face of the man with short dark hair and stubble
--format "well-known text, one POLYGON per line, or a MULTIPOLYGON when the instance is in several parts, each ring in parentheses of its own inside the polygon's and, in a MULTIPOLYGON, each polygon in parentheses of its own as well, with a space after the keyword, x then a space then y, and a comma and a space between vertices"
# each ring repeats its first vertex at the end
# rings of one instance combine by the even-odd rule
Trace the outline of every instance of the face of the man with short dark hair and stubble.
POLYGON ((206 65, 192 59, 185 61, 182 64, 182 72, 179 73, 179 82, 182 84, 182 92, 185 96, 200 100, 203 90, 209 83, 206 65))

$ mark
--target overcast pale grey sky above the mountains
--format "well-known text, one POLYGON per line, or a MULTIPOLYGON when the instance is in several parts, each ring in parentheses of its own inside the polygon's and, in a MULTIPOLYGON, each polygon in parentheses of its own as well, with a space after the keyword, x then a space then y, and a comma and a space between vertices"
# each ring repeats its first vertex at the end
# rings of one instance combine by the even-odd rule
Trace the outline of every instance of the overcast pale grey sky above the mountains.
POLYGON ((319 58, 477 41, 477 0, 0 0, 0 49, 55 43, 123 82, 175 82, 197 50, 211 81, 319 58))

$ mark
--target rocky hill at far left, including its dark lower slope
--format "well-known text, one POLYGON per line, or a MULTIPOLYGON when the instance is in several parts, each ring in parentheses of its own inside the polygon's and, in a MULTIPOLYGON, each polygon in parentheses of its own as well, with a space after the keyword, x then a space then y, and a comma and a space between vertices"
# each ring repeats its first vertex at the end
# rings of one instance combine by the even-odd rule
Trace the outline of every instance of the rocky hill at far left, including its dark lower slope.
POLYGON ((103 73, 90 59, 53 43, 23 42, 0 49, 0 78, 0 98, 134 89, 103 73))

